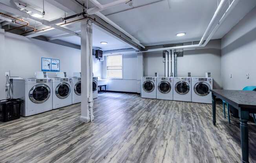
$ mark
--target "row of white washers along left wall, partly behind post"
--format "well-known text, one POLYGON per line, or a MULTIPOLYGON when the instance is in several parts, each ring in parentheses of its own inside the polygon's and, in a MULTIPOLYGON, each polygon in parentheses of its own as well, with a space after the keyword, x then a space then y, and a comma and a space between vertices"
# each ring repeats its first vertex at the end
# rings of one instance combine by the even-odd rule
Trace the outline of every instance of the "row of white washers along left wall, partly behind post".
MULTIPOLYGON (((58 109, 81 102, 81 78, 11 78, 13 98, 21 98, 22 116, 58 109)), ((97 77, 93 77, 93 99, 98 97, 97 77)))

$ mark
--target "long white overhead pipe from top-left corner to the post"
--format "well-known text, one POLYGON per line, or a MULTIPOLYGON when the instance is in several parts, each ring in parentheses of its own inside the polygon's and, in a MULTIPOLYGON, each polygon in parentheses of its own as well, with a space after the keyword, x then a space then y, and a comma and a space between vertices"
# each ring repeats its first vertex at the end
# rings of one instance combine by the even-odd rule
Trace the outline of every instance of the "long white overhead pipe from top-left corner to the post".
POLYGON ((51 22, 49 22, 48 20, 42 20, 42 19, 35 18, 35 17, 33 17, 33 16, 23 12, 23 11, 20 11, 19 9, 15 9, 15 8, 10 7, 9 5, 6 5, 6 4, 1 3, 1 2, 0 2, 0 9, 4 10, 4 11, 7 11, 9 13, 17 14, 19 16, 22 16, 23 18, 30 18, 32 20, 40 22, 40 23, 42 23, 44 25, 47 25, 49 27, 53 27, 55 29, 59 29, 60 31, 63 31, 63 32, 66 32, 66 33, 69 33, 69 34, 73 34, 74 36, 80 37, 80 34, 75 33, 73 31, 70 31, 69 29, 60 27, 59 25, 56 25, 56 24, 51 24, 51 22))

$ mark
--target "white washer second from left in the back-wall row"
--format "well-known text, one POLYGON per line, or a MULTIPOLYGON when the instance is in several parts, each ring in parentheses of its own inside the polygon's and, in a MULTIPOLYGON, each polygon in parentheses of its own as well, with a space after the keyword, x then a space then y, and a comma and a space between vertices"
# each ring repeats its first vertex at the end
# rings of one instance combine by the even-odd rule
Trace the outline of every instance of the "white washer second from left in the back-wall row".
POLYGON ((156 78, 156 98, 161 100, 173 100, 173 78, 157 77, 156 78))

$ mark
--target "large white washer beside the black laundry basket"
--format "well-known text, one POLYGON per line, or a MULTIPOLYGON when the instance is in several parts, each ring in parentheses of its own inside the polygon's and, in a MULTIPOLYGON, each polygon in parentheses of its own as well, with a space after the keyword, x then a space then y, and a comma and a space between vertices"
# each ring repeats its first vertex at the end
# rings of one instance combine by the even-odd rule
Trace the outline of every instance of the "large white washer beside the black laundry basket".
POLYGON ((52 81, 49 78, 12 79, 13 98, 22 98, 22 116, 32 116, 53 109, 52 81))

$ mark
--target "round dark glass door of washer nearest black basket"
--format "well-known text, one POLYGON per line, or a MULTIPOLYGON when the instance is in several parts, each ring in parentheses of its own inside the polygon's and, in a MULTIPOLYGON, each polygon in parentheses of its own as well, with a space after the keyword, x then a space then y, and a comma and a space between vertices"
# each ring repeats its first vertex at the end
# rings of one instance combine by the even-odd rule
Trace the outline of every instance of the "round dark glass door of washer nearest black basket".
POLYGON ((29 99, 33 103, 44 103, 51 96, 51 90, 48 85, 37 84, 29 91, 29 99))

